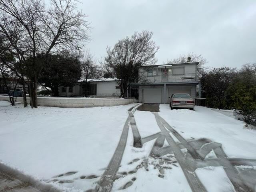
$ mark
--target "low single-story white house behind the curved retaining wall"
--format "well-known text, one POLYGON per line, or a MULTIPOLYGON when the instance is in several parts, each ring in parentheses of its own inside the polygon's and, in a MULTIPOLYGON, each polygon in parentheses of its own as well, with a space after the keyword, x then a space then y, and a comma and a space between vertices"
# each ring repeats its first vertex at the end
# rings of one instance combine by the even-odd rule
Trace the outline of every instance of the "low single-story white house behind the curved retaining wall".
POLYGON ((73 87, 59 87, 60 96, 120 96, 120 87, 114 78, 88 79, 85 84, 82 80, 73 87))

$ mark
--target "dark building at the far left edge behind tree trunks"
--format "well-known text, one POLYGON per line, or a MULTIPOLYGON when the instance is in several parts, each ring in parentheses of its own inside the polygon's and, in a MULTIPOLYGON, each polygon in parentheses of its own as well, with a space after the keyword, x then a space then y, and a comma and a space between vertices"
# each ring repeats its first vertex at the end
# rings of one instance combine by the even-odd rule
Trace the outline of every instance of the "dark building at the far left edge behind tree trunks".
MULTIPOLYGON (((8 94, 9 90, 13 90, 16 86, 18 78, 15 77, 2 77, 0 76, 0 94, 8 94)), ((28 84, 25 85, 26 91, 28 92, 28 84)), ((18 82, 16 90, 23 90, 23 86, 18 82)))

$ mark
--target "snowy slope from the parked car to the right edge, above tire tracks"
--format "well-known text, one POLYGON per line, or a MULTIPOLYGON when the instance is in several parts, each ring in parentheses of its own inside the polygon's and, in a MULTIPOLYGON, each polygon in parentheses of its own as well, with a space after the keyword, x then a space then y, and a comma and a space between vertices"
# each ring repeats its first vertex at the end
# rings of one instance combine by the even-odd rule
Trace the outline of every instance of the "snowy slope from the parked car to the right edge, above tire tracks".
POLYGON ((230 158, 256 159, 256 131, 244 129, 240 120, 201 106, 194 111, 170 110, 169 105, 160 104, 159 114, 187 140, 208 138, 221 143, 230 158))

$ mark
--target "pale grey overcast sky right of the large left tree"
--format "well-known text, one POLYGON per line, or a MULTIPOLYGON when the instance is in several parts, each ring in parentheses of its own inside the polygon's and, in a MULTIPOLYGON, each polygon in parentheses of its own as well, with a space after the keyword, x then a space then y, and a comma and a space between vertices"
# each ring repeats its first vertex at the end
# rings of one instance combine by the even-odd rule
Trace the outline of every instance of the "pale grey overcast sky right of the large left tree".
MULTIPOLYGON (((255 0, 83 0, 91 22, 87 48, 97 59, 121 38, 149 30, 160 46, 158 64, 202 54, 210 67, 256 62, 255 0)), ((79 6, 79 8, 80 8, 79 6)))

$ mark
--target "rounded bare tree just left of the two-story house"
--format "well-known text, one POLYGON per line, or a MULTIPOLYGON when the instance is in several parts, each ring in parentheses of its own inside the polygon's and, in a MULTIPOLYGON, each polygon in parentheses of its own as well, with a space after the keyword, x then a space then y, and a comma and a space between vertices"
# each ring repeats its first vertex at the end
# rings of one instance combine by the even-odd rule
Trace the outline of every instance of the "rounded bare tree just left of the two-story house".
POLYGON ((158 46, 152 41, 152 32, 135 32, 131 37, 119 40, 114 48, 107 48, 105 65, 107 70, 116 77, 116 82, 124 98, 131 82, 138 81, 138 68, 156 64, 155 54, 158 46))

